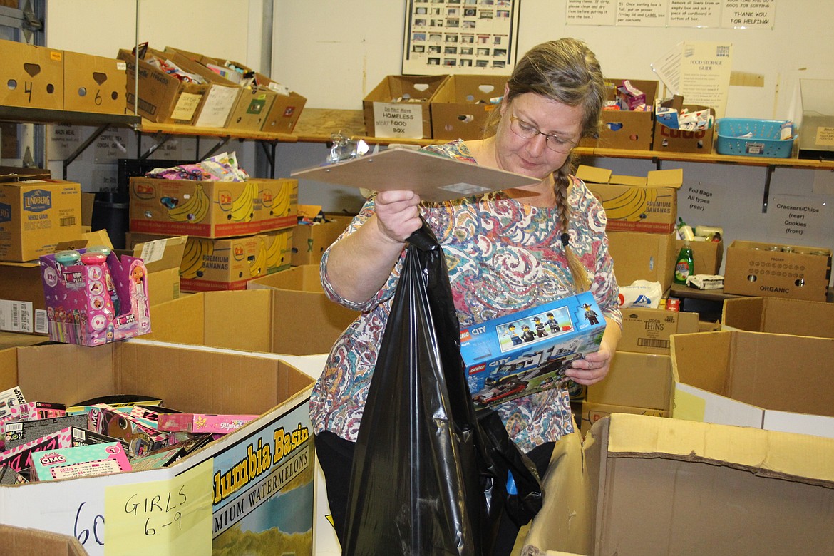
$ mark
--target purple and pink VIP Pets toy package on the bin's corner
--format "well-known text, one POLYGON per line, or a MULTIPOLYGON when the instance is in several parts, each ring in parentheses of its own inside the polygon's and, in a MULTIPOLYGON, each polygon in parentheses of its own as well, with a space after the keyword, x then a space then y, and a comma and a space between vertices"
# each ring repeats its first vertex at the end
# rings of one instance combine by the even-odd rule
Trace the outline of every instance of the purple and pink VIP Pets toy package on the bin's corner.
POLYGON ((150 332, 148 271, 142 259, 109 253, 99 261, 83 257, 87 251, 40 258, 49 339, 95 346, 150 332))

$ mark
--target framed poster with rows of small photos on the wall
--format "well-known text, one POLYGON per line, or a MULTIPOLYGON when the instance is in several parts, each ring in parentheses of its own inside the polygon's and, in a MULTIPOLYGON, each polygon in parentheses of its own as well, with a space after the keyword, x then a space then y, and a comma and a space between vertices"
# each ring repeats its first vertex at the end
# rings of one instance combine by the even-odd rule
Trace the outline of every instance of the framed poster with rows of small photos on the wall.
POLYGON ((520 0, 409 0, 404 75, 509 75, 520 0))

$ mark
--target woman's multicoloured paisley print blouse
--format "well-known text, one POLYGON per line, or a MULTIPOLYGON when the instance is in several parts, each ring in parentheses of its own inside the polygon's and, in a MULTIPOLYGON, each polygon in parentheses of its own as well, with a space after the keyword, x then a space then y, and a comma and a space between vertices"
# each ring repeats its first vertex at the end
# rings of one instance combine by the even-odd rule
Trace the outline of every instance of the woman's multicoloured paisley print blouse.
MULTIPOLYGON (((462 141, 426 147, 474 163, 462 141)), ((605 317, 621 323, 619 290, 605 237, 605 212, 579 179, 569 193, 570 247, 592 278, 591 292, 605 317)), ((353 233, 374 213, 365 203, 344 231, 353 233)), ((504 193, 423 203, 421 213, 443 247, 461 325, 548 303, 575 293, 555 208, 519 203, 504 193)), ((373 298, 352 303, 334 292, 328 279, 329 250, 321 261, 324 291, 338 303, 361 311, 334 343, 310 399, 314 430, 329 430, 355 441, 364 401, 388 318, 404 252, 388 282, 373 298)), ((495 406, 511 438, 529 451, 574 430, 566 387, 553 388, 495 406)))

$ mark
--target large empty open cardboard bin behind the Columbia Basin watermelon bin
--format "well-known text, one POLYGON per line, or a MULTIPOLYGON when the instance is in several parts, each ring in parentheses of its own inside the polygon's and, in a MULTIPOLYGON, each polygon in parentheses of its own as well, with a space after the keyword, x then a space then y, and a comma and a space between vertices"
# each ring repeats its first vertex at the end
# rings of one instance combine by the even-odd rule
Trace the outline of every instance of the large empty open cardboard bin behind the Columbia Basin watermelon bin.
MULTIPOLYGON (((279 277, 293 269, 270 274, 279 277)), ((254 280, 249 283, 250 287, 254 280)), ((153 333, 145 338, 246 351, 311 355, 329 353, 359 313, 324 293, 261 286, 234 292, 186 295, 153 308, 153 333), (230 334, 229 330, 241 333, 230 334)))

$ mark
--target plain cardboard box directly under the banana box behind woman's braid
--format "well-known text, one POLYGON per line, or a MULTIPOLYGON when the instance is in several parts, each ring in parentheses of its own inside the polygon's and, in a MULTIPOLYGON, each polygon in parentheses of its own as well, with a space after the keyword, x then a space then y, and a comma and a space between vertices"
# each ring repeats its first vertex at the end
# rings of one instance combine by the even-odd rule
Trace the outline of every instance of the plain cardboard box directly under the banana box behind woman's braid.
POLYGON ((664 291, 671 286, 679 252, 674 233, 609 232, 608 250, 620 285, 648 280, 664 291))

